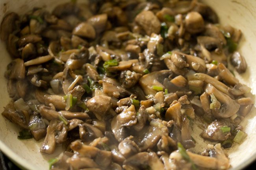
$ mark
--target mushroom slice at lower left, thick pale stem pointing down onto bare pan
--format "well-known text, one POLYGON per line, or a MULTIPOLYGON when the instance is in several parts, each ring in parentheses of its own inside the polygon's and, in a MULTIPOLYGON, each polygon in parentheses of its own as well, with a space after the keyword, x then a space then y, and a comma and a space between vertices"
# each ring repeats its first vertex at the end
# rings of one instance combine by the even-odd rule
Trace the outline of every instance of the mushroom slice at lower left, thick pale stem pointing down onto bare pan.
POLYGON ((52 119, 47 128, 45 140, 40 148, 40 152, 52 154, 56 144, 63 143, 67 140, 67 126, 57 119, 52 119))

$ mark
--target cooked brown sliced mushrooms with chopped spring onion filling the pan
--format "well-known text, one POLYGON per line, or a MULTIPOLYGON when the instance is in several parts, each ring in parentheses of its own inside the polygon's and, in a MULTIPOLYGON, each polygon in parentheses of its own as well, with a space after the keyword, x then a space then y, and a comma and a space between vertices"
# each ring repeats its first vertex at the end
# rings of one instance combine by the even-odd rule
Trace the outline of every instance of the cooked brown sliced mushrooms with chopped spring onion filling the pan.
POLYGON ((52 170, 226 170, 223 149, 246 136, 254 102, 227 68, 247 69, 241 31, 197 0, 34 8, 7 14, 0 37, 13 57, 2 115, 43 154, 62 144, 52 170), (210 144, 192 152, 199 138, 210 144))

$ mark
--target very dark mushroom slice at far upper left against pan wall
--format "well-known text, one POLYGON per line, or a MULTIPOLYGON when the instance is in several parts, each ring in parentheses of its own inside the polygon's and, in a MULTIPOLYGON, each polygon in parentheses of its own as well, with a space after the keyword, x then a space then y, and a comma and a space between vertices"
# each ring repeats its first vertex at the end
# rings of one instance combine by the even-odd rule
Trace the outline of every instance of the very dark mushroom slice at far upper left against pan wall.
POLYGON ((16 13, 9 13, 4 16, 1 23, 0 37, 3 41, 7 41, 9 35, 17 29, 16 21, 19 20, 19 16, 16 13))

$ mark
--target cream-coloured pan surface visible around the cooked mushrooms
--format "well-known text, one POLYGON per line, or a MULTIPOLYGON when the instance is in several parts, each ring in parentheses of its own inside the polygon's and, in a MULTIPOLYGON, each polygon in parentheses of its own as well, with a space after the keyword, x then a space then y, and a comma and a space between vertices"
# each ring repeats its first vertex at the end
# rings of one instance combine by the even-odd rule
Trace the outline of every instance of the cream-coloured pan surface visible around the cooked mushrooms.
MULTIPOLYGON (((0 0, 0 21, 9 12, 14 11, 24 14, 33 7, 46 7, 52 10, 58 4, 67 0, 0 0)), ((85 2, 85 0, 81 0, 85 2)), ((247 72, 236 77, 247 86, 252 88, 252 94, 256 93, 256 1, 255 0, 202 0, 210 5, 219 15, 221 24, 230 24, 241 29, 243 37, 239 44, 239 51, 245 57, 248 69, 247 72)), ((6 51, 6 46, 0 42, 0 113, 9 102, 6 88, 4 71, 11 57, 6 51)), ((254 98, 254 96, 253 96, 254 98)), ((245 141, 226 150, 229 154, 233 170, 241 170, 256 160, 256 109, 252 111, 241 122, 245 132, 248 134, 245 141)), ((196 128, 195 128, 196 129, 196 128)), ((19 128, 0 116, 0 150, 4 152, 17 165, 27 170, 46 170, 47 161, 61 152, 58 148, 54 155, 43 155, 39 153, 42 141, 34 139, 19 140, 17 135, 19 128)), ((202 150, 203 145, 199 144, 197 149, 202 150)))

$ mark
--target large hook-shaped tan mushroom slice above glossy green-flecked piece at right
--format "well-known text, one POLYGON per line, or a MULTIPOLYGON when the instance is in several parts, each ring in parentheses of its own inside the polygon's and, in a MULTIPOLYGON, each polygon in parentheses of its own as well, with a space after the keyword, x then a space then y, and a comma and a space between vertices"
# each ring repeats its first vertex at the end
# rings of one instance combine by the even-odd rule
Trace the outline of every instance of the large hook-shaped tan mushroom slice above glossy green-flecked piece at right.
POLYGON ((218 118, 228 118, 236 114, 240 105, 236 101, 231 99, 228 95, 217 90, 213 85, 207 84, 205 88, 208 95, 214 95, 216 99, 221 102, 221 107, 212 109, 212 113, 218 118))

